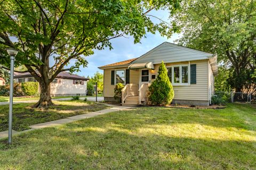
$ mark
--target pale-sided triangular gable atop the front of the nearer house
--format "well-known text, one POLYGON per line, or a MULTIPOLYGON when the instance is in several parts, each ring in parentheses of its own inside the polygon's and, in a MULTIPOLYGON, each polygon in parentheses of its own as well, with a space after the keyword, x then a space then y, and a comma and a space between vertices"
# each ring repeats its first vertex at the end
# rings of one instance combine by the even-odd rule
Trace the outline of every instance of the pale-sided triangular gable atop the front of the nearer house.
POLYGON ((162 43, 143 54, 132 63, 153 62, 154 64, 173 63, 182 61, 204 60, 213 57, 210 53, 205 53, 196 49, 175 45, 172 43, 162 43))

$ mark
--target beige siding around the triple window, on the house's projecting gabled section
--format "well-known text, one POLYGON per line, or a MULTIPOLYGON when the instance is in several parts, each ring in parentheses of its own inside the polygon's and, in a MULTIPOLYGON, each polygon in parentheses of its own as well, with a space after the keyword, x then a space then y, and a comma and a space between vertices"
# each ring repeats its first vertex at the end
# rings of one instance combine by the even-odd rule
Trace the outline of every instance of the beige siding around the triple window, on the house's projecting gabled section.
MULTIPOLYGON (((166 66, 183 65, 189 62, 166 63, 166 66)), ((208 99, 208 63, 209 60, 191 61, 196 64, 196 84, 190 86, 173 86, 174 99, 177 100, 209 100, 208 99)), ((159 64, 154 65, 152 74, 157 75, 159 64)))

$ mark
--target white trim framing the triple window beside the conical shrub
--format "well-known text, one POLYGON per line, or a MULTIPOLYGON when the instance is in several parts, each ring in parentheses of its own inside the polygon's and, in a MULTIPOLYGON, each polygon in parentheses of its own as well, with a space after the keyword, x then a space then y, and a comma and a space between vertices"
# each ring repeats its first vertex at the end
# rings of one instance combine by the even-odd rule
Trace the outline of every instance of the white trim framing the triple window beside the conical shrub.
POLYGON ((173 86, 190 86, 190 62, 189 62, 189 64, 166 66, 166 68, 172 68, 172 81, 171 81, 171 83, 172 83, 173 86), (182 83, 182 66, 187 66, 188 67, 188 82, 187 83, 182 83), (180 83, 174 83, 174 67, 179 67, 180 83))

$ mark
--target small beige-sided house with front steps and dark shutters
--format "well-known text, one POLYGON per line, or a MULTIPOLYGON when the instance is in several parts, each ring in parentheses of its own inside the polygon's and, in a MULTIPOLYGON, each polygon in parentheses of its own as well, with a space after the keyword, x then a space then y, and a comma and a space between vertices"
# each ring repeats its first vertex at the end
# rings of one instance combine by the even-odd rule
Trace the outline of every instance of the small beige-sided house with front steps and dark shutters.
POLYGON ((167 42, 138 58, 100 66, 104 73, 104 100, 113 101, 115 84, 123 83, 122 105, 143 104, 162 61, 173 85, 173 103, 211 104, 217 56, 167 42))

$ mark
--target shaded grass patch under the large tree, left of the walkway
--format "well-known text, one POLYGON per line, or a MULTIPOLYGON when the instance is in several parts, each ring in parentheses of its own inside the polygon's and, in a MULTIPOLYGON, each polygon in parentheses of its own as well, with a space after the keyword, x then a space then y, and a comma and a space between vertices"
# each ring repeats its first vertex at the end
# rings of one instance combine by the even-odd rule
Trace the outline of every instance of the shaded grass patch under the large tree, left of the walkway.
MULTIPOLYGON (((31 103, 13 105, 13 130, 30 129, 29 125, 50 122, 61 118, 99 111, 107 108, 106 105, 90 101, 53 101, 55 106, 47 109, 31 107, 31 103)), ((0 105, 0 132, 8 130, 9 105, 0 105)))

